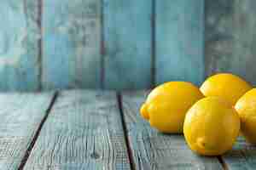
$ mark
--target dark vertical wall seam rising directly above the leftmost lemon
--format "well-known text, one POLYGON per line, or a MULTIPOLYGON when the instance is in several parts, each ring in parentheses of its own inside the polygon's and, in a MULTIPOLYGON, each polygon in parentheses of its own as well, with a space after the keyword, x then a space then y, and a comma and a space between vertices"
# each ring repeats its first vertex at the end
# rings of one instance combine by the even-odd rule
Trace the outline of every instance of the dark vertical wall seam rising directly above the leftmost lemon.
POLYGON ((152 0, 152 16, 151 16, 151 88, 155 86, 155 58, 156 58, 156 47, 155 47, 155 20, 156 20, 156 3, 155 0, 152 0))

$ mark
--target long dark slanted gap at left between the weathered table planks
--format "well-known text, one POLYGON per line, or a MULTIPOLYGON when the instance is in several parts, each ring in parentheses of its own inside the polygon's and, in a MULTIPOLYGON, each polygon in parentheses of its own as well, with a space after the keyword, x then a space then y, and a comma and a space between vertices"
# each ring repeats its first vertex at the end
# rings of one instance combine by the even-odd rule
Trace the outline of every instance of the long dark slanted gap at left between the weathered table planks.
POLYGON ((59 92, 55 92, 53 98, 51 99, 50 101, 50 104, 49 104, 49 107, 47 108, 47 110, 45 111, 45 115, 42 119, 42 121, 39 123, 38 125, 38 129, 36 130, 36 133, 34 134, 34 136, 32 137, 32 142, 29 144, 27 150, 26 150, 26 153, 25 155, 23 156, 21 162, 20 162, 20 166, 18 167, 18 170, 23 170, 24 167, 26 166, 26 161, 28 160, 29 156, 30 156, 30 153, 34 147, 34 145, 36 144, 36 141, 38 139, 38 136, 44 126, 44 122, 46 122, 48 116, 49 116, 49 112, 51 111, 53 105, 55 104, 55 100, 57 99, 58 97, 58 94, 59 92))

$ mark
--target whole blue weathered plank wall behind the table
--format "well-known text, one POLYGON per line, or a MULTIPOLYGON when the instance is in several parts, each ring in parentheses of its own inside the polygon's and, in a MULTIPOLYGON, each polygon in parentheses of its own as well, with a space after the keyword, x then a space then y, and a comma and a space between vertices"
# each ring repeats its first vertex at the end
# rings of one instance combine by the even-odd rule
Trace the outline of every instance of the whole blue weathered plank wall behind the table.
POLYGON ((254 0, 2 0, 0 90, 256 82, 254 0))

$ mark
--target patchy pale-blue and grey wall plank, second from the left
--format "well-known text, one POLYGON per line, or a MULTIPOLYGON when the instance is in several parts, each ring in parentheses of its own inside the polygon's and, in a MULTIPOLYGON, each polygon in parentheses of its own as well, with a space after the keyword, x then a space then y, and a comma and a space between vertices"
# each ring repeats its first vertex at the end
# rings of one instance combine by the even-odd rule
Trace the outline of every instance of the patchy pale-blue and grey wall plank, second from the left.
POLYGON ((99 88, 101 0, 45 0, 43 88, 99 88))

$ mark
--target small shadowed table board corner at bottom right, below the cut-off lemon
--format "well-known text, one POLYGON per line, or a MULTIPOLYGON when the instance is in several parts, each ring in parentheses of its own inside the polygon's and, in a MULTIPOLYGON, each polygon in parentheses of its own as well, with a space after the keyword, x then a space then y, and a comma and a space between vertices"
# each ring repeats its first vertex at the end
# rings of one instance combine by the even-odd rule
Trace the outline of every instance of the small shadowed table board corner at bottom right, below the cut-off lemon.
POLYGON ((256 147, 247 144, 245 139, 239 137, 233 150, 223 156, 226 167, 230 170, 253 170, 256 164, 256 147))

